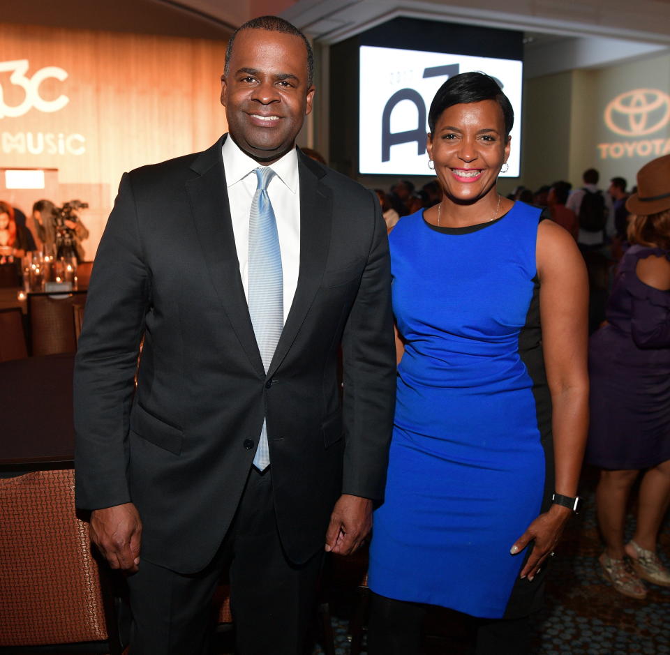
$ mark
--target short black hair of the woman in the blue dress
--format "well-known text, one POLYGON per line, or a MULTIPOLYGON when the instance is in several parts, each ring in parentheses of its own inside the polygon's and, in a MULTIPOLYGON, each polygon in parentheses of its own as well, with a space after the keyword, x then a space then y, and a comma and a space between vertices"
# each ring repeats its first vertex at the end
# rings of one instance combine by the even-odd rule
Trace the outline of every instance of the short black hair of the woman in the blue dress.
POLYGON ((449 80, 442 84, 435 93, 435 98, 431 103, 431 110, 428 112, 428 125, 431 128, 431 134, 435 131, 435 123, 438 122, 440 115, 449 107, 454 105, 468 105, 470 103, 480 103, 482 100, 496 100, 502 110, 502 116, 505 119, 505 139, 512 132, 514 126, 514 110, 509 98, 502 93, 500 84, 486 73, 460 73, 449 77, 449 80))

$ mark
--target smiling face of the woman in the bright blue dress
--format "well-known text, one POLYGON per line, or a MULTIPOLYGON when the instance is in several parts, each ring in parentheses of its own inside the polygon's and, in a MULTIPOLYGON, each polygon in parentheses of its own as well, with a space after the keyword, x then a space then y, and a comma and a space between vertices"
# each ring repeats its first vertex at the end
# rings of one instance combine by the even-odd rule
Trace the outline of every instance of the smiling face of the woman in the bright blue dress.
POLYGON ((509 157, 500 105, 482 100, 447 107, 429 136, 428 153, 445 195, 466 203, 484 197, 509 157))

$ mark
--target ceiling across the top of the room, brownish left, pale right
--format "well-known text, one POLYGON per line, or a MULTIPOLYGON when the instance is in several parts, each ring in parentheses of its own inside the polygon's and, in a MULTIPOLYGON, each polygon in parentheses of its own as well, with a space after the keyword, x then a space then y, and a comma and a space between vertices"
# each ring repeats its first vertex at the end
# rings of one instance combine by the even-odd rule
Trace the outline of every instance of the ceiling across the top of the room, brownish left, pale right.
POLYGON ((670 50, 669 0, 0 0, 0 7, 1 22, 214 39, 250 17, 276 14, 325 45, 399 16, 516 29, 526 34, 527 77, 670 50))

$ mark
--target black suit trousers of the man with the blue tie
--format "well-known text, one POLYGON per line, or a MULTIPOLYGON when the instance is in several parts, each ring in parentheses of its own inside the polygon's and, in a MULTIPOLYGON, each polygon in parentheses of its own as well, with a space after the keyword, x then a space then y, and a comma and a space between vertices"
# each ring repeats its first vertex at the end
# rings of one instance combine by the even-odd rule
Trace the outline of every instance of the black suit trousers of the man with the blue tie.
POLYGON ((182 575, 140 561, 140 571, 128 578, 130 654, 207 653, 211 597, 228 571, 237 655, 304 655, 322 559, 319 552, 295 566, 285 558, 271 470, 260 474, 252 467, 232 525, 207 569, 182 575))

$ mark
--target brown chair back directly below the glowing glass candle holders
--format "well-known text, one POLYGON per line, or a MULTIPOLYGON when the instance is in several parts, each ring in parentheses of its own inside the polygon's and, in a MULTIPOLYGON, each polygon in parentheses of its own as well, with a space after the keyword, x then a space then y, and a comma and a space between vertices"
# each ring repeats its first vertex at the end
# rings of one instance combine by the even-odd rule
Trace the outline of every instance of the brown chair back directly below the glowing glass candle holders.
POLYGON ((74 305, 84 305, 86 292, 28 294, 31 354, 53 355, 77 350, 74 305))

